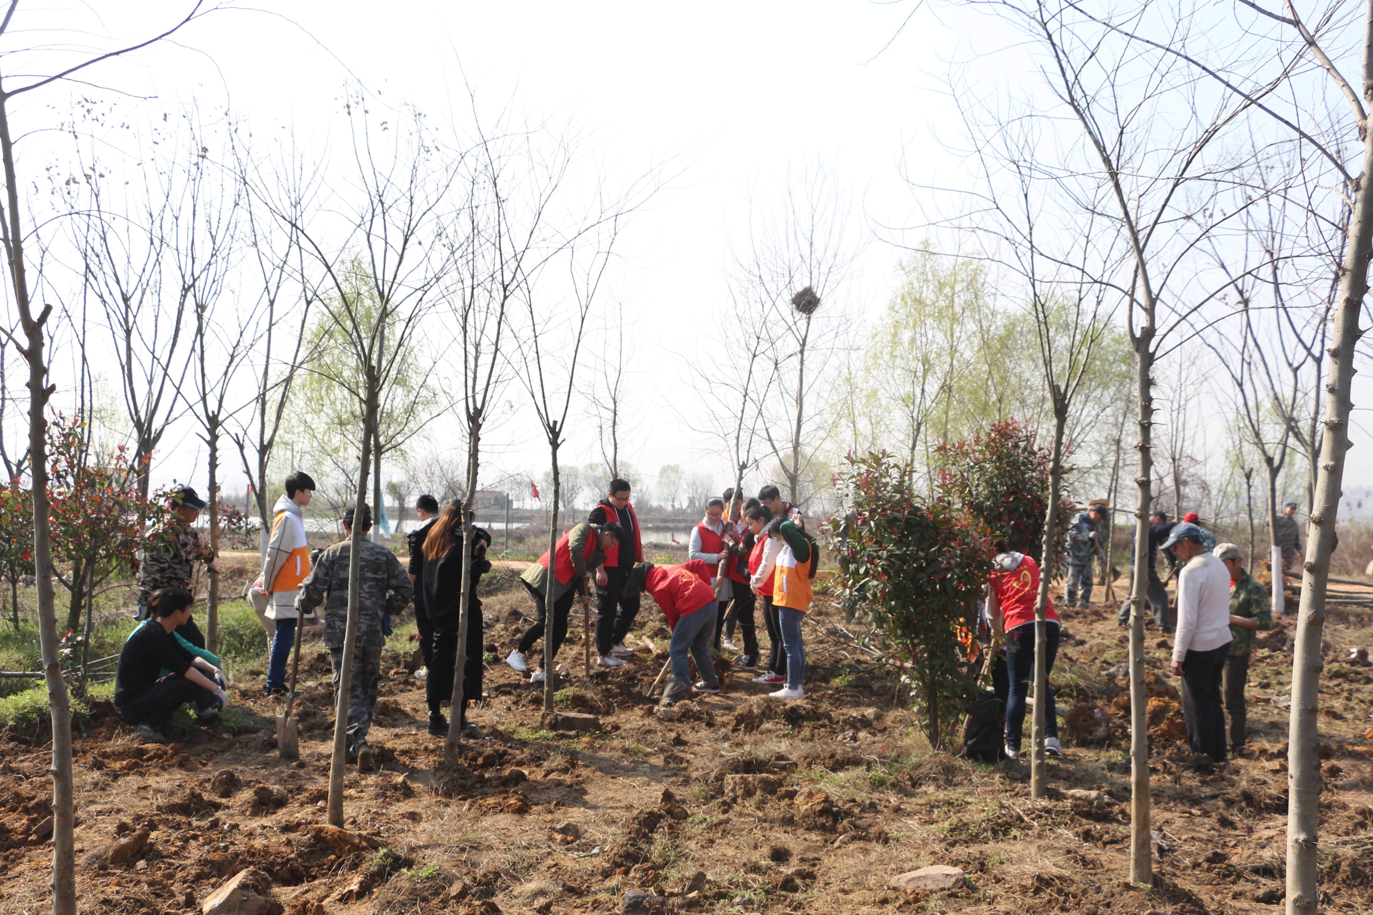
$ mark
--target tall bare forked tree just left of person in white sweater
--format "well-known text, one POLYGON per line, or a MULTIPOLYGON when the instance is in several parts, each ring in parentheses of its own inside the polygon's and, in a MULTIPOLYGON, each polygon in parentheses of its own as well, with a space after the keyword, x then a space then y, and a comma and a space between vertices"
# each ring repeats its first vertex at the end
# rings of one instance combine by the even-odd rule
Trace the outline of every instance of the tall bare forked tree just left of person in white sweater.
POLYGON ((1170 336, 1175 339, 1186 329, 1186 321, 1215 299, 1214 289, 1184 294, 1193 272, 1179 268, 1189 262, 1197 239, 1227 225, 1227 217, 1233 215, 1222 215, 1214 206, 1218 189, 1205 180, 1234 170, 1233 155, 1225 154, 1216 140, 1249 103, 1203 99, 1192 74, 1177 62, 1138 67, 1134 63, 1137 52, 1129 40, 1109 40, 1109 32, 1093 25, 1090 14, 1078 10, 1071 0, 993 5, 1013 14, 1035 40, 1045 56, 1046 82, 1081 128, 1083 145, 1072 148, 1072 158, 1054 171, 1070 202, 1075 203, 1070 207, 1097 211, 1103 219, 1109 214, 1114 224, 1109 235, 1122 243, 1114 251, 1101 252, 1104 266, 1093 281, 1124 300, 1135 354, 1140 465, 1130 595, 1130 879, 1149 883, 1153 875, 1141 610, 1153 499, 1153 370, 1159 347, 1170 336), (1174 118, 1166 126, 1157 117, 1159 99, 1164 96, 1174 97, 1189 117, 1174 118), (1189 195, 1193 188, 1195 193, 1189 195), (1096 210, 1096 202, 1108 209, 1096 210))

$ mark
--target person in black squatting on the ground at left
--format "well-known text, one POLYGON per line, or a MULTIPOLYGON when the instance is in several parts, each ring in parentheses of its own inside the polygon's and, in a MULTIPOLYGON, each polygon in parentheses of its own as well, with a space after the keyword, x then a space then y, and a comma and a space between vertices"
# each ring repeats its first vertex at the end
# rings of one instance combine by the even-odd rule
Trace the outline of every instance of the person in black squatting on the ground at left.
POLYGON ((180 587, 165 587, 148 598, 151 617, 144 620, 119 652, 114 674, 114 706, 143 739, 166 744, 162 727, 176 711, 191 702, 202 719, 229 704, 220 678, 224 674, 180 642, 174 631, 191 619, 195 598, 180 587))

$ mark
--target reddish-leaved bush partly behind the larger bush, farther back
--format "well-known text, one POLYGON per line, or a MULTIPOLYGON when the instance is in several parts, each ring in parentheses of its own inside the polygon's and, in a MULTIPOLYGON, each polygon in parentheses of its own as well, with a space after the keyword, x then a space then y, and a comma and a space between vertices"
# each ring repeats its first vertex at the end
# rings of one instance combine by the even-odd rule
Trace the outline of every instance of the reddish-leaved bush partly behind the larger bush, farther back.
MULTIPOLYGON (((941 442, 935 450, 945 460, 938 477, 942 492, 980 519, 993 539, 1032 556, 1050 579, 1061 575, 1072 509, 1067 495, 1060 495, 1053 538, 1057 546, 1052 557, 1042 556, 1052 455, 1035 443, 1028 425, 1006 420, 961 442, 941 442)), ((1071 449, 1064 451, 1067 458, 1071 449)))

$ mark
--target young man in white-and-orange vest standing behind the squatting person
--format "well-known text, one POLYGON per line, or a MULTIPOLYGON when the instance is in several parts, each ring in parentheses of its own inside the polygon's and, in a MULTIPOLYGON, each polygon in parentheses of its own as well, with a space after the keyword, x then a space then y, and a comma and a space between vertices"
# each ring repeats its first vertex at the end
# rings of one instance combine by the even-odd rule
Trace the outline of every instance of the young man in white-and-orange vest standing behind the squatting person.
MULTIPOLYGON (((268 598, 264 615, 276 623, 272 632, 272 656, 266 668, 266 696, 286 693, 286 664, 295 645, 295 595, 310 573, 310 547, 305 539, 305 506, 314 495, 314 480, 297 471, 286 477, 286 492, 272 509, 272 539, 262 557, 258 593, 268 598)), ((262 599, 261 597, 258 599, 262 599)), ((306 624, 313 620, 306 620, 306 624)))

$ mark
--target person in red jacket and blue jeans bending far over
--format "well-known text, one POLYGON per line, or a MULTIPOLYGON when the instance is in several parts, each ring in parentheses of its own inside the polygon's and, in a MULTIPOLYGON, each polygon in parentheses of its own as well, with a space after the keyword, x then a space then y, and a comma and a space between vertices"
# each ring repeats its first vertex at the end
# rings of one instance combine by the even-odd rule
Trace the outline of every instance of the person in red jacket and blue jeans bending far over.
POLYGON ((700 680, 693 687, 697 693, 719 691, 719 676, 710 657, 710 637, 719 612, 715 590, 707 583, 714 572, 714 567, 702 560, 681 565, 636 562, 623 589, 625 599, 630 601, 637 601, 644 591, 654 595, 673 632, 667 649, 673 678, 692 689, 691 665, 686 663, 691 654, 700 672, 700 680))

